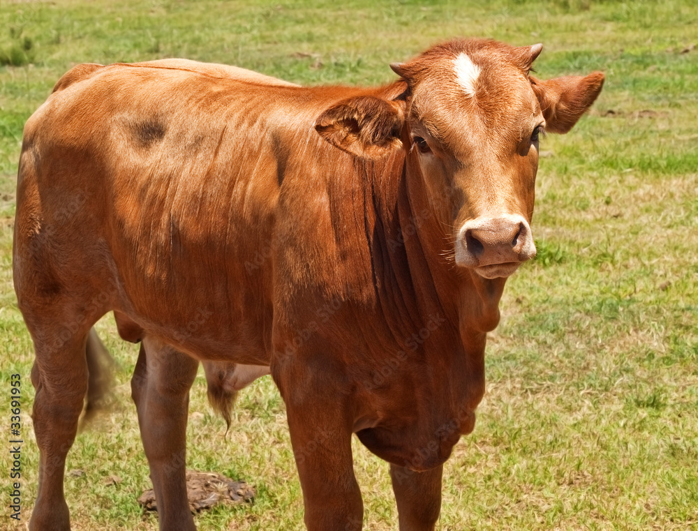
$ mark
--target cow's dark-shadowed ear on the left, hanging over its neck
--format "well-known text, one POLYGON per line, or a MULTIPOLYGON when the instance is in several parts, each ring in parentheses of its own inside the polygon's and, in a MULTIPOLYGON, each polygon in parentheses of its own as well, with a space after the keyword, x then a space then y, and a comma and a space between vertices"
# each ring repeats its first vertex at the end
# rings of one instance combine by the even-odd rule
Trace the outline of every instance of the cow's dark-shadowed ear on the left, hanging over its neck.
POLYGON ((357 96, 332 105, 315 120, 327 142, 361 158, 376 159, 400 149, 404 102, 357 96))

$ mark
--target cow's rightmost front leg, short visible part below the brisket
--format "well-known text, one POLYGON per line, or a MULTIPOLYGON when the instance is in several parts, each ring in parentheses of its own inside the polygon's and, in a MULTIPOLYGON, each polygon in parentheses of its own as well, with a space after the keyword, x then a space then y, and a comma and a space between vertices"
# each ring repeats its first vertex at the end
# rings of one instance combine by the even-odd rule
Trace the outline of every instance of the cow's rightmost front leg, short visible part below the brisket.
POLYGON ((433 531, 441 512, 443 465, 414 472, 390 465, 390 479, 397 502, 400 531, 433 531))

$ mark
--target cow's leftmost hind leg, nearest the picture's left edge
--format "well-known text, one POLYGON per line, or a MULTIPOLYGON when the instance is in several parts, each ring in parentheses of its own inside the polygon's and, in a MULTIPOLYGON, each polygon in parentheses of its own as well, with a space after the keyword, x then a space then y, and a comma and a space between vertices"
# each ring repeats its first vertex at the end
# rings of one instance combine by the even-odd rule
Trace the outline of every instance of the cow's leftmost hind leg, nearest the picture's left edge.
POLYGON ((63 482, 66 456, 75 440, 87 393, 85 344, 89 327, 73 332, 69 327, 33 325, 27 320, 36 350, 31 382, 36 389, 32 421, 39 449, 39 473, 29 529, 67 531, 70 515, 63 482))

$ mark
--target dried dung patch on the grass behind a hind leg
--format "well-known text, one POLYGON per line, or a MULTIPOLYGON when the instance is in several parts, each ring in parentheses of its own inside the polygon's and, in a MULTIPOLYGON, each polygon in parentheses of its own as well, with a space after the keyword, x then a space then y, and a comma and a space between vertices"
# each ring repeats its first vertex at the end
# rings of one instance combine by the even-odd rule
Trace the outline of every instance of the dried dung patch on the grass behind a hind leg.
MULTIPOLYGON (((235 481, 216 472, 196 470, 186 471, 186 493, 189 509, 193 513, 211 509, 219 503, 237 505, 252 502, 255 498, 254 489, 244 481, 235 481)), ((158 510, 152 488, 140 495, 138 503, 144 512, 158 510)))

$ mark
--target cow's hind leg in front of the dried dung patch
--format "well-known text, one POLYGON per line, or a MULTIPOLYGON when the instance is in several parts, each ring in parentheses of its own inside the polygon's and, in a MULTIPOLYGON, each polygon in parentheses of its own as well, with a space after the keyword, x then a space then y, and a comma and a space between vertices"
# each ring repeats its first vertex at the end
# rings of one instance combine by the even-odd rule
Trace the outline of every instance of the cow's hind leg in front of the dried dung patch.
POLYGON ((196 529, 186 496, 186 418, 197 368, 195 359, 146 337, 131 380, 161 530, 196 529))

